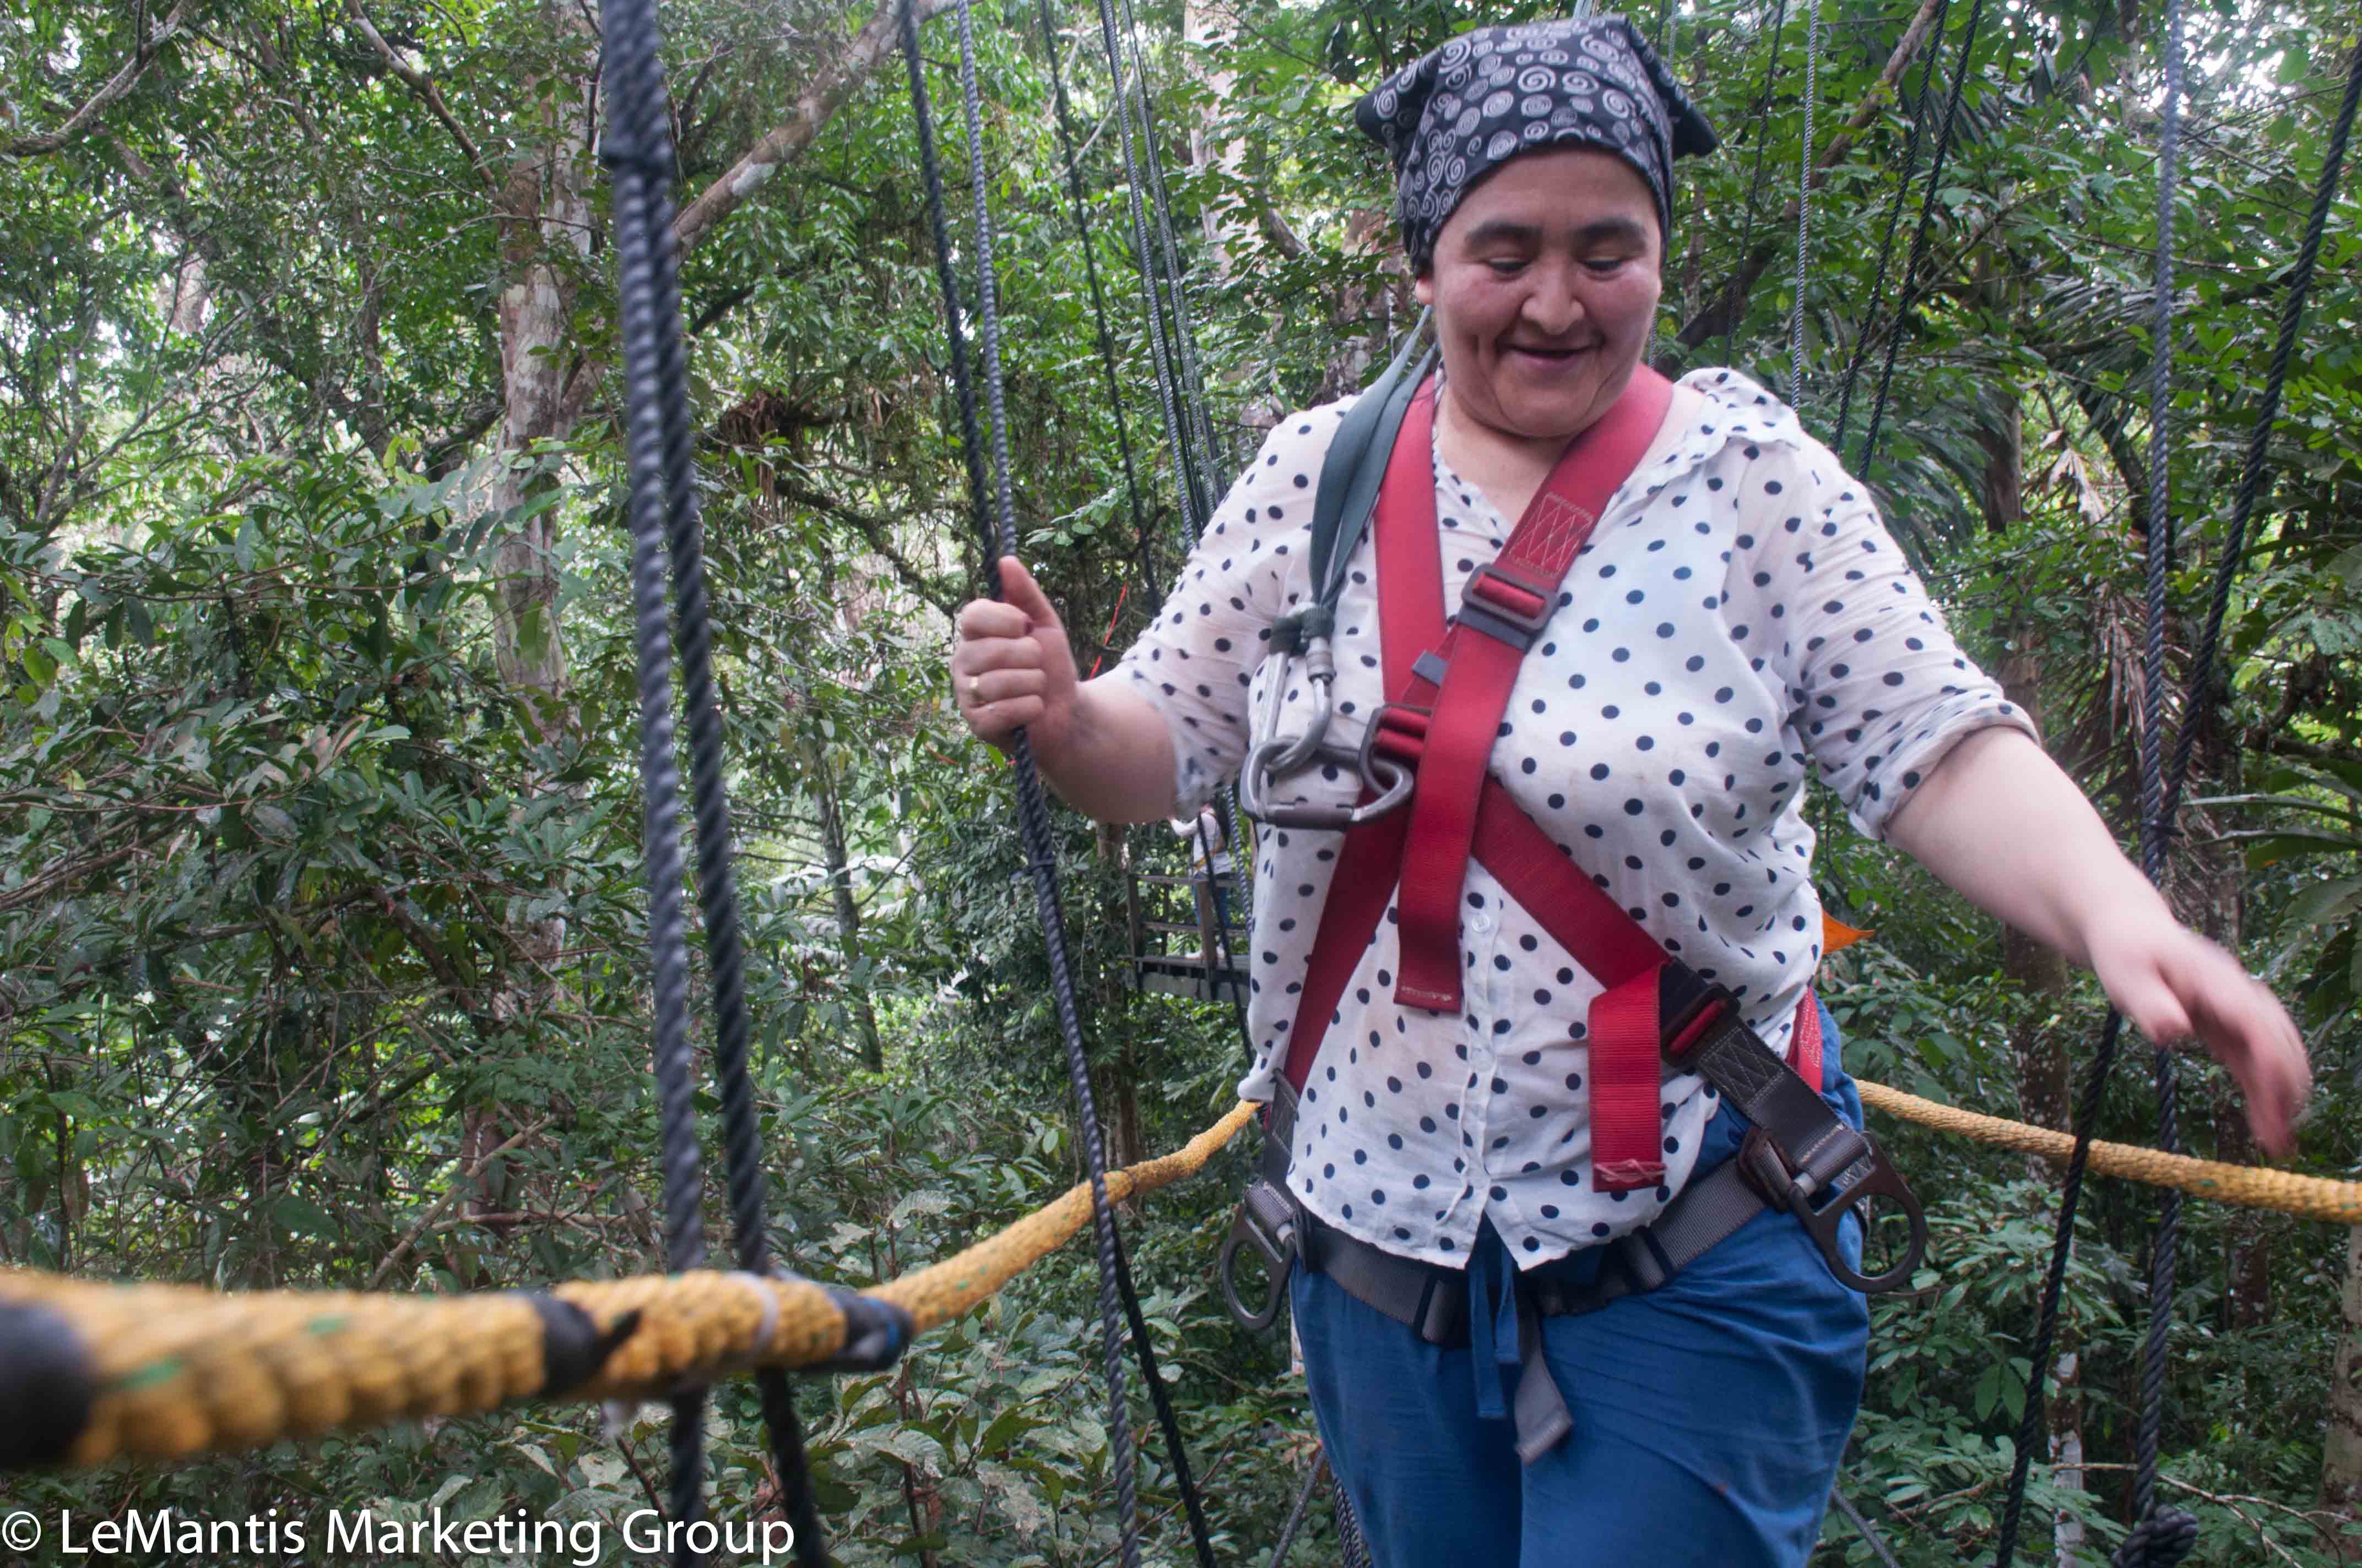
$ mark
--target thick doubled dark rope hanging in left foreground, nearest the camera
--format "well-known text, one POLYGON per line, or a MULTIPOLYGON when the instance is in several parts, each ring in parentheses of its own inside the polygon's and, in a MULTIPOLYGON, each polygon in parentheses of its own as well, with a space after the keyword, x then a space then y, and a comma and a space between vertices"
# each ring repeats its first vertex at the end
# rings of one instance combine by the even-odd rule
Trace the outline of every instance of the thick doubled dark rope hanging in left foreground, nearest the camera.
MULTIPOLYGON (((650 947, 654 954, 657 1079, 664 1122, 666 1266, 699 1268, 706 1259, 699 1216, 699 1145, 694 1067, 687 1037, 687 942, 680 904, 680 772, 671 716, 671 642, 664 567, 671 564, 678 616, 680 685, 687 708, 690 796, 697 824, 697 897, 713 982, 713 1070, 723 1110, 723 1159, 732 1252, 753 1275, 770 1273, 765 1174, 753 1079, 746 1067, 746 952, 730 869, 730 801, 723 784, 723 727, 713 692, 711 607, 687 413, 687 357, 680 342, 680 272, 673 246, 673 144, 657 54, 654 0, 607 0, 602 14, 609 128, 602 158, 614 182, 616 298, 626 375, 626 465, 631 472, 633 631, 647 779, 650 947), (659 555, 661 548, 661 555, 659 555)), ((779 1497, 796 1535, 796 1556, 824 1568, 827 1537, 805 1469, 787 1374, 756 1377, 770 1431, 779 1497)), ((680 1523, 704 1511, 702 1389, 673 1396, 671 1509, 680 1523)), ((692 1566, 697 1551, 676 1549, 692 1566)))

